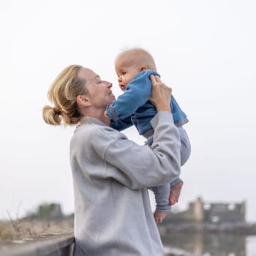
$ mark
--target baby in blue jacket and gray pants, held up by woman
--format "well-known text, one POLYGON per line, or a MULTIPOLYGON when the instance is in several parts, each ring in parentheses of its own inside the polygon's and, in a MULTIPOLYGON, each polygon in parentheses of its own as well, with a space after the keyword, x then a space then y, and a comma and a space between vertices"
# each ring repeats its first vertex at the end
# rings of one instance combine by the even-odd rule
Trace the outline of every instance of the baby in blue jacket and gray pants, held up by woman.
MULTIPOLYGON (((110 117, 111 127, 119 131, 134 124, 139 134, 146 138, 148 146, 151 146, 154 130, 150 121, 157 114, 157 110, 148 101, 152 88, 149 76, 159 76, 154 59, 146 50, 132 48, 117 56, 115 68, 119 87, 124 94, 107 106, 105 114, 110 117)), ((170 108, 181 138, 181 165, 184 165, 191 150, 187 132, 182 127, 188 122, 188 119, 173 95, 170 100, 170 108)), ((169 214, 171 206, 178 202, 182 185, 181 178, 176 178, 170 184, 150 188, 154 192, 157 203, 154 212, 156 222, 162 222, 169 214)))

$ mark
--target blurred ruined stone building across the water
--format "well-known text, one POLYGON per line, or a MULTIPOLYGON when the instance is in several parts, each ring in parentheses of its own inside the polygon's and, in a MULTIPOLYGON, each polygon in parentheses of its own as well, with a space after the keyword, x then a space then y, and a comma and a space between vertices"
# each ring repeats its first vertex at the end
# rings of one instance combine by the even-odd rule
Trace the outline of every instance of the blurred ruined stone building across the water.
POLYGON ((166 221, 181 222, 245 222, 246 205, 241 203, 206 203, 200 197, 189 203, 186 211, 169 214, 166 221))

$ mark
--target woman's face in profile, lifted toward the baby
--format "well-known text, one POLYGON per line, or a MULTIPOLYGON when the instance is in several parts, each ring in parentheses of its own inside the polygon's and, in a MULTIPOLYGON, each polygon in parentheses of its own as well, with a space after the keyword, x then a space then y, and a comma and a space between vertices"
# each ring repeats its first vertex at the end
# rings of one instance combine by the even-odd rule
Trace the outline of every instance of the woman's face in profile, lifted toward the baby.
POLYGON ((112 83, 101 80, 99 75, 91 69, 80 69, 78 75, 86 80, 86 88, 89 91, 88 97, 94 107, 105 109, 116 99, 111 91, 112 83))

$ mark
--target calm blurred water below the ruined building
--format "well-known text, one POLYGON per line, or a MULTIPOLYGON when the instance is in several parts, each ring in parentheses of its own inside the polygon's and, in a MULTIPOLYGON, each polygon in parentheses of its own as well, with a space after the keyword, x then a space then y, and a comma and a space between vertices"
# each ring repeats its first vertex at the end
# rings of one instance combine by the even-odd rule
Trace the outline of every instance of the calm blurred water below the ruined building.
POLYGON ((166 256, 256 256, 256 236, 176 233, 162 242, 166 256))

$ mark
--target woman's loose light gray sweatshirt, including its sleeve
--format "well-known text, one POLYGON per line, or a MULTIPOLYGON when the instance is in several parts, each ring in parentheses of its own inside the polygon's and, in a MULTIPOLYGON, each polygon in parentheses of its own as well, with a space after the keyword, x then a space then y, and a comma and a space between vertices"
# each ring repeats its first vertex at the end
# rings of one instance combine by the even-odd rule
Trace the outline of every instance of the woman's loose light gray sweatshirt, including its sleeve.
POLYGON ((92 117, 70 142, 75 194, 75 256, 162 256, 147 187, 180 173, 180 139, 167 111, 151 120, 149 148, 92 117))

